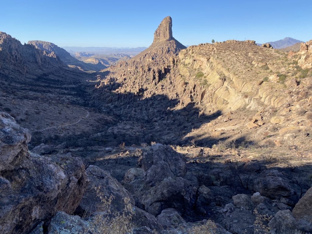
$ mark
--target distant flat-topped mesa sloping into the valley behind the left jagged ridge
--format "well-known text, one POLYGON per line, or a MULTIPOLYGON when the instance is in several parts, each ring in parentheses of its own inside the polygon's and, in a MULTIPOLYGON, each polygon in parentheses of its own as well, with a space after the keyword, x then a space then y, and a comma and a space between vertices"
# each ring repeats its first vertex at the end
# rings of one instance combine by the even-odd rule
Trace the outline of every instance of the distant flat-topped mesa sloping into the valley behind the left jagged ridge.
POLYGON ((47 41, 28 41, 29 45, 34 45, 37 49, 43 51, 43 54, 49 57, 54 57, 67 65, 80 67, 82 70, 91 70, 91 71, 99 71, 101 69, 106 68, 103 64, 98 62, 97 64, 90 64, 79 61, 70 55, 66 50, 57 45, 47 42, 47 41))

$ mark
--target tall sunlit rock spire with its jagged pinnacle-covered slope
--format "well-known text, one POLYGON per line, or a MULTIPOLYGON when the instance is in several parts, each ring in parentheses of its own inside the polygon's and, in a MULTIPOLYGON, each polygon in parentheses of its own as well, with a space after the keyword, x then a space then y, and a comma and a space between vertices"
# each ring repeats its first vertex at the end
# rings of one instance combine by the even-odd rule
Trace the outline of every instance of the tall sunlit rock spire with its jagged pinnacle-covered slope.
POLYGON ((110 82, 115 84, 110 89, 115 88, 118 93, 133 92, 135 95, 149 97, 153 91, 160 92, 159 82, 167 77, 175 64, 175 56, 185 48, 172 37, 172 20, 171 17, 166 17, 155 31, 152 45, 130 60, 103 70, 110 74, 98 87, 110 82), (149 90, 144 94, 146 89, 149 90))

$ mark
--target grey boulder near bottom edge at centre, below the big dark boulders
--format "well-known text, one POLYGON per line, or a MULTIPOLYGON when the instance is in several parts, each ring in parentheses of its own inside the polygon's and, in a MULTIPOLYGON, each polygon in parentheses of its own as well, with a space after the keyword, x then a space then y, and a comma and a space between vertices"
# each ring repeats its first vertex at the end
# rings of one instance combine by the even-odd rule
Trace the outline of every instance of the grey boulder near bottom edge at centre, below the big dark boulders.
POLYGON ((180 214, 173 208, 164 209, 156 219, 164 229, 172 227, 177 228, 182 223, 186 223, 180 214))

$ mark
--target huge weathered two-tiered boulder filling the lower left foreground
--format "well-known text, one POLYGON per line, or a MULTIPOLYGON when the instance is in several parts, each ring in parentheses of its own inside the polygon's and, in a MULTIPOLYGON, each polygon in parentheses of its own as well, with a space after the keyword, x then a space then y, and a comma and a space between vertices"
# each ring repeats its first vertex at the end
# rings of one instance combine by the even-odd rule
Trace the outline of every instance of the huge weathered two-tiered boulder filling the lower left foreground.
POLYGON ((1 113, 0 229, 29 233, 57 211, 72 213, 87 188, 80 158, 27 153, 30 134, 1 113), (13 159, 13 160, 11 160, 13 159))

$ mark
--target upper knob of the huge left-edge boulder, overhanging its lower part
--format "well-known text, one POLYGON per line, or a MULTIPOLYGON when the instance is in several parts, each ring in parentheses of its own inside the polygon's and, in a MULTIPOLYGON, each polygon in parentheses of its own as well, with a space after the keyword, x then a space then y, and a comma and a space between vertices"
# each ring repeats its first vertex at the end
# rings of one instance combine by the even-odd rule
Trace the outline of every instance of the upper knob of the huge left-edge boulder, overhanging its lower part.
POLYGON ((28 129, 18 125, 9 114, 0 112, 0 171, 19 166, 31 139, 28 129))

